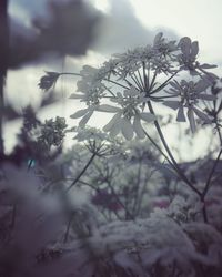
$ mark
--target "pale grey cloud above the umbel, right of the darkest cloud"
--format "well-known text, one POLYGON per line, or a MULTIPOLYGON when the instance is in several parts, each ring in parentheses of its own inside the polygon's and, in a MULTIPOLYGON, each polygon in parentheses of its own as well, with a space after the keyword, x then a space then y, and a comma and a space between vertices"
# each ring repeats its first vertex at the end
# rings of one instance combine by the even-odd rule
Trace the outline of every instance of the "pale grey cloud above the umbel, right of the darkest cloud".
POLYGON ((138 45, 151 43, 158 31, 163 31, 169 38, 176 34, 165 28, 148 29, 140 20, 128 0, 110 0, 111 10, 102 20, 99 40, 93 45, 98 52, 110 54, 121 52, 138 45))

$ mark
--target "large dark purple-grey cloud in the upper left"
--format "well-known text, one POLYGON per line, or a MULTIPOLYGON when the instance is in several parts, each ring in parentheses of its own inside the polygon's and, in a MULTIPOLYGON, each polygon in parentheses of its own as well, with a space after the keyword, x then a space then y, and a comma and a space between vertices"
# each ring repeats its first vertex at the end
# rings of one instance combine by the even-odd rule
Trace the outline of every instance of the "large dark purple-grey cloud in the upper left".
MULTIPOLYGON (((19 1, 20 8, 26 9, 28 1, 19 1)), ((82 55, 92 42, 98 13, 85 7, 81 0, 29 1, 27 9, 31 7, 31 10, 41 10, 43 2, 47 3, 43 17, 31 19, 34 13, 29 11, 29 28, 11 19, 9 68, 19 68, 48 54, 82 55)))

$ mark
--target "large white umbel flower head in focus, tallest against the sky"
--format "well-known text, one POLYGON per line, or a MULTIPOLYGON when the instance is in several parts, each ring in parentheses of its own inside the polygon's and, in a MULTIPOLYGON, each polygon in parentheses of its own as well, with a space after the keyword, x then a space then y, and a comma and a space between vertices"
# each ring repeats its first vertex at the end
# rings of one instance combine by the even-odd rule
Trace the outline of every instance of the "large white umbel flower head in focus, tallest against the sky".
POLYGON ((121 133, 127 140, 134 134, 144 138, 142 122, 157 121, 152 105, 163 103, 178 110, 176 120, 180 122, 186 120, 184 110, 188 110, 188 120, 194 132, 194 115, 211 122, 202 111, 202 104, 215 100, 208 89, 218 79, 205 71, 215 65, 201 65, 198 53, 196 41, 185 37, 176 43, 158 33, 151 45, 114 54, 98 69, 84 65, 77 83, 79 93, 70 98, 79 99, 87 107, 71 117, 81 117, 79 126, 84 127, 94 112, 113 113, 103 131, 113 137, 121 133), (188 71, 191 78, 196 75, 196 80, 178 81, 182 71, 188 71), (165 90, 169 85, 170 89, 165 90))

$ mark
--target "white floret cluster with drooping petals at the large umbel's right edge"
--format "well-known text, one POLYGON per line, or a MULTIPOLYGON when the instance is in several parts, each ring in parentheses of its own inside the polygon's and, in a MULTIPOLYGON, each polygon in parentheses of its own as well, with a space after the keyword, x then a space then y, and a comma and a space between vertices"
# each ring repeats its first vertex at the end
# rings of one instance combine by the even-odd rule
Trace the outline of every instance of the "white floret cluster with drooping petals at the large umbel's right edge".
POLYGON ((165 91, 167 93, 171 94, 171 96, 179 96, 180 100, 170 100, 164 101, 163 104, 173 109, 178 110, 178 122, 185 122, 185 115, 184 115, 184 107, 188 109, 188 120, 190 122, 191 131, 195 132, 195 121, 194 121, 194 114, 200 117, 205 123, 211 123, 211 120, 209 116, 202 112, 199 107, 196 107, 196 104, 199 104, 200 100, 204 101, 213 101, 215 100, 215 96, 212 94, 208 94, 205 91, 209 88, 209 82, 204 80, 199 80, 198 82, 186 82, 185 80, 182 80, 180 83, 178 81, 170 82, 171 88, 169 91, 165 91))

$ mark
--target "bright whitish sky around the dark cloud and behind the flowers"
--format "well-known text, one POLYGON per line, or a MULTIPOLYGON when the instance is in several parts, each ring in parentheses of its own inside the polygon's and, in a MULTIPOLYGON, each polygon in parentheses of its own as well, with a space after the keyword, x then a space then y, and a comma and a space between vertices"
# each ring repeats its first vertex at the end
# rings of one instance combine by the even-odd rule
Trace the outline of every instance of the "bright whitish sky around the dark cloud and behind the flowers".
MULTIPOLYGON (((59 1, 59 0, 51 0, 59 1)), ((68 0, 63 0, 64 2, 68 0)), ((62 1, 60 1, 62 2, 62 1)), ((222 65, 222 1, 221 0, 84 0, 100 13, 102 20, 98 24, 94 41, 90 44, 85 54, 80 57, 68 55, 65 59, 44 59, 38 63, 24 64, 16 70, 10 70, 7 82, 7 98, 14 103, 18 111, 29 103, 36 107, 40 104, 42 92, 37 83, 47 71, 79 71, 83 64, 100 65, 112 53, 123 52, 137 45, 152 42, 159 31, 163 31, 169 39, 190 37, 200 43, 200 60, 208 63, 222 65)), ((49 17, 47 4, 49 0, 10 0, 9 14, 13 19, 14 32, 32 35, 31 20, 49 17)), ((218 73, 220 68, 218 69, 218 73)), ((75 80, 63 79, 58 84, 62 101, 40 116, 65 116, 74 113, 80 106, 69 100, 74 92, 75 80)), ((71 124, 77 122, 70 121, 71 124)), ((92 119, 91 124, 100 126, 105 123, 102 116, 92 119)), ((14 134, 18 132, 18 123, 8 124, 6 127, 7 147, 14 143, 14 134)), ((168 138, 173 144, 178 137, 178 131, 172 129, 167 132, 168 138)), ((202 150, 195 148, 199 154, 202 150)), ((185 157, 189 158, 190 156, 185 157)))

